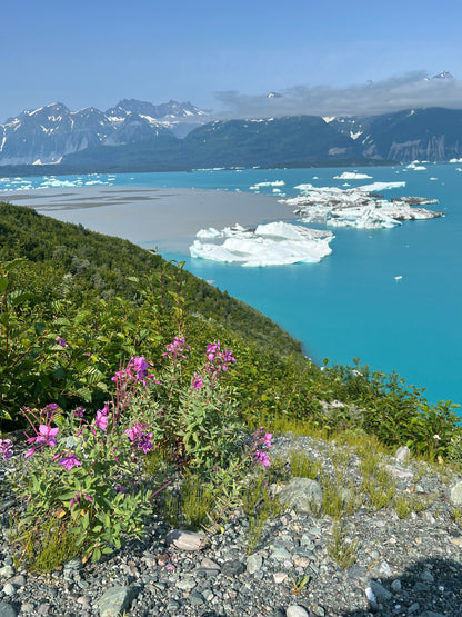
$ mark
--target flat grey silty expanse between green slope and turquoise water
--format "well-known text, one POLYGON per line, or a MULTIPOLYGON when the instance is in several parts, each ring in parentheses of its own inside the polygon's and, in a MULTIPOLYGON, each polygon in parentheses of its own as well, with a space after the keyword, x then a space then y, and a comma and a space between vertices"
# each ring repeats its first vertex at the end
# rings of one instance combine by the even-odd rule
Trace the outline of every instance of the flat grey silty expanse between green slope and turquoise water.
POLYGON ((188 253, 200 229, 243 226, 294 215, 275 198, 205 189, 78 187, 0 192, 0 201, 29 206, 66 222, 160 251, 188 253))

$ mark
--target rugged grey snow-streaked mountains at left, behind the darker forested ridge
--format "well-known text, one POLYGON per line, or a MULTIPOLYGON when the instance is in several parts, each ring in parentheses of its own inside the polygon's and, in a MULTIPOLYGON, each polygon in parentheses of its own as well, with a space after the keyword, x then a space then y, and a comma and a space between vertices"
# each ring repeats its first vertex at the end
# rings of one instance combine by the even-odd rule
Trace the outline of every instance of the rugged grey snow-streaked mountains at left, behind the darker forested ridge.
POLYGON ((56 102, 24 110, 0 125, 0 165, 58 163, 62 157, 96 146, 121 146, 173 132, 184 137, 207 121, 189 101, 154 106, 122 100, 107 111, 70 111, 56 102))

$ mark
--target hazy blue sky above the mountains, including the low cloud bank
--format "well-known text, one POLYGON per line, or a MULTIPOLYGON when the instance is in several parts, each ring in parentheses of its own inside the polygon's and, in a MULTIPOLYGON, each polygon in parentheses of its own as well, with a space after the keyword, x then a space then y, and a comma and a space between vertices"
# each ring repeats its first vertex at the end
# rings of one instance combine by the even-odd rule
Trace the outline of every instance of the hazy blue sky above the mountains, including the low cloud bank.
POLYGON ((462 108, 456 0, 2 0, 0 20, 0 122, 124 98, 223 118, 462 108))

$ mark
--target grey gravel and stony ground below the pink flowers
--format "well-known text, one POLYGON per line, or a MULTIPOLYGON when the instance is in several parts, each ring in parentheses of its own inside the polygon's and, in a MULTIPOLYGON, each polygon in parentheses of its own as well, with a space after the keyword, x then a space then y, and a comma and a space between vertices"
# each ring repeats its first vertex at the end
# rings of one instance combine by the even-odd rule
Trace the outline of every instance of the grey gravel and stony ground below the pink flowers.
MULTIPOLYGON (((273 457, 298 448, 327 472, 339 465, 332 457, 335 446, 309 437, 285 436, 274 445, 273 457)), ((359 458, 340 458, 344 478, 360 486, 359 458)), ((2 482, 12 461, 2 462, 2 482)), ((73 559, 50 575, 14 568, 8 543, 13 502, 3 490, 0 617, 462 615, 462 529, 453 516, 454 507, 462 507, 462 486, 443 468, 406 461, 402 450, 383 465, 398 494, 434 500, 420 515, 400 519, 393 508, 374 511, 361 499, 356 511, 342 518, 343 548, 354 548, 351 543, 358 540, 350 567, 330 556, 333 519, 312 514, 322 497, 312 480, 285 488, 290 505, 265 525, 251 555, 245 550, 249 523, 240 511, 221 534, 205 539, 152 519, 142 541, 130 541, 96 565, 73 559)))

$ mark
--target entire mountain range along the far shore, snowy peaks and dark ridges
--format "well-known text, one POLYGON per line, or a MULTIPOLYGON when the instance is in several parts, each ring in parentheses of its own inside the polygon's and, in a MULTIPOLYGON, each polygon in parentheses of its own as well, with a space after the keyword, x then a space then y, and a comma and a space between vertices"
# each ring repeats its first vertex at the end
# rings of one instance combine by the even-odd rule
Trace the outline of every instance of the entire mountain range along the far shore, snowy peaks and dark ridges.
POLYGON ((104 112, 72 112, 52 103, 0 125, 0 166, 52 165, 54 172, 378 165, 461 157, 462 110, 445 108, 371 117, 211 120, 190 102, 155 106, 125 99, 104 112))

